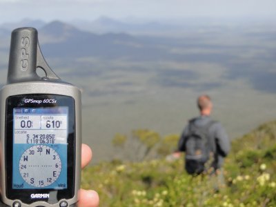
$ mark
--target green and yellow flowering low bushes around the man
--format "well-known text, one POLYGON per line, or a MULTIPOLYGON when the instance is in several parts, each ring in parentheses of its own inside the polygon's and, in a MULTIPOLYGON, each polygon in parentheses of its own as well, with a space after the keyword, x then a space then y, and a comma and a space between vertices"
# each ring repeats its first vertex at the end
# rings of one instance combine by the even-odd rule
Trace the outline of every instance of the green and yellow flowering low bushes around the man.
POLYGON ((140 161, 90 166, 83 171, 82 187, 97 190, 103 207, 276 206, 276 121, 233 141, 224 164, 226 186, 219 190, 208 176, 187 175, 182 158, 168 159, 177 138, 151 130, 116 135, 113 144, 125 156, 131 150, 124 149, 136 141, 132 153, 140 161))

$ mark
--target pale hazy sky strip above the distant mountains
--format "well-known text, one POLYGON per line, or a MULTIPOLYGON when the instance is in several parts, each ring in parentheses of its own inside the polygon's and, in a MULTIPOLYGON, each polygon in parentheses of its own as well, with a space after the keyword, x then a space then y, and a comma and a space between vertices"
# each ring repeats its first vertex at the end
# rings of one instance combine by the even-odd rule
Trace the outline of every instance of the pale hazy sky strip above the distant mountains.
POLYGON ((276 19, 275 0, 0 0, 0 23, 43 21, 170 20, 187 17, 276 19))

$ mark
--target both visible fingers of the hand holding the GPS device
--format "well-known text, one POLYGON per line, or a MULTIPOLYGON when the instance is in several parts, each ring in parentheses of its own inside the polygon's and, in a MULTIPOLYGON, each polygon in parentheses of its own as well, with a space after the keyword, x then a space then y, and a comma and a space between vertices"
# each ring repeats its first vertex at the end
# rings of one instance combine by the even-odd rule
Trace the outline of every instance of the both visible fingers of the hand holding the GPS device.
MULTIPOLYGON (((81 168, 89 164, 92 159, 92 150, 86 145, 81 146, 81 168)), ((95 190, 79 190, 78 207, 97 207, 99 206, 99 195, 95 190)))

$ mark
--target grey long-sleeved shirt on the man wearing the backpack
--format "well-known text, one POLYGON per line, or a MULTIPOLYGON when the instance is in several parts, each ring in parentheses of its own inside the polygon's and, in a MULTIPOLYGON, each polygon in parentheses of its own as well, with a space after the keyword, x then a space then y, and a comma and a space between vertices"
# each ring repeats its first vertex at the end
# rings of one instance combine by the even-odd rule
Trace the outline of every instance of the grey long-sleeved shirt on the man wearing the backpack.
MULTIPOLYGON (((211 121, 210 117, 208 116, 200 116, 194 119, 194 124, 196 126, 204 126, 209 121, 211 121)), ((179 151, 185 151, 185 142, 186 142, 186 136, 189 132, 189 125, 186 126, 184 129, 184 132, 182 133, 179 143, 178 143, 178 150, 179 151)), ((208 129, 208 135, 210 137, 210 144, 211 144, 211 150, 214 152, 214 162, 213 167, 215 169, 221 168, 224 157, 228 155, 228 152, 230 151, 230 141, 228 139, 228 135, 226 134, 226 131, 221 126, 219 122, 214 122, 210 128, 208 129)))

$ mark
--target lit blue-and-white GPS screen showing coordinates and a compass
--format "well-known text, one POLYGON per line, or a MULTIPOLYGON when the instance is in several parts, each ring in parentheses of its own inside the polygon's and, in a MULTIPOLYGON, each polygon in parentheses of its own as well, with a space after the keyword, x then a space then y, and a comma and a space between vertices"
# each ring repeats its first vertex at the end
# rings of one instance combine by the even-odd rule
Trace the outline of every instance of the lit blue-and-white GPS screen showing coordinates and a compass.
POLYGON ((67 188, 68 107, 13 109, 12 188, 67 188))

